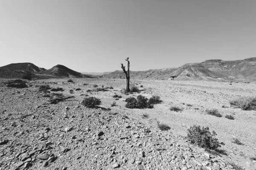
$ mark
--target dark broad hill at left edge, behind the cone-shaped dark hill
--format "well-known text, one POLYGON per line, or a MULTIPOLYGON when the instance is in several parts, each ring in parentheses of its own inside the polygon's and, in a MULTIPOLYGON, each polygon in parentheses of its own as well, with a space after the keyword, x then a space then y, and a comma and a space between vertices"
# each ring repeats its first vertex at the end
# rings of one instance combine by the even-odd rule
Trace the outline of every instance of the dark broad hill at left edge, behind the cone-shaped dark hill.
POLYGON ((40 67, 36 66, 33 63, 12 63, 12 64, 8 64, 6 66, 2 66, 0 68, 10 69, 10 70, 21 70, 21 71, 25 71, 25 72, 41 72, 41 71, 46 70, 44 68, 40 68, 40 67))

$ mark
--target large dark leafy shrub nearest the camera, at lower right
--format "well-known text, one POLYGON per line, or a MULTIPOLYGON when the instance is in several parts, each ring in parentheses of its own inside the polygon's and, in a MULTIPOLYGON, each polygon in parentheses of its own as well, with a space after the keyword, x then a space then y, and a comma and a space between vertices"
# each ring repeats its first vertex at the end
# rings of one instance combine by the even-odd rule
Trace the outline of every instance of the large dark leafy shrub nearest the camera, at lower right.
POLYGON ((221 147, 217 138, 214 138, 216 133, 211 133, 209 127, 200 127, 194 125, 188 129, 187 137, 192 142, 192 144, 197 144, 200 147, 216 150, 221 147))

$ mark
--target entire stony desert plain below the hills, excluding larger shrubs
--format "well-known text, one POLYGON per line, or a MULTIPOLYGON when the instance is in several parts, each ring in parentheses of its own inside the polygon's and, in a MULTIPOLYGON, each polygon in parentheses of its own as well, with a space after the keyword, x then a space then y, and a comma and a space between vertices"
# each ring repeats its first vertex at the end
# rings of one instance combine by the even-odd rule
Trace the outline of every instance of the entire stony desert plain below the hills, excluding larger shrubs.
POLYGON ((256 169, 256 110, 230 104, 256 96, 255 82, 131 76, 137 90, 125 92, 125 79, 75 78, 61 68, 58 78, 0 79, 0 170, 256 169), (127 108, 126 99, 140 95, 160 102, 127 108), (94 108, 90 97, 100 101, 94 108), (217 152, 189 140, 194 125, 214 131, 217 152))

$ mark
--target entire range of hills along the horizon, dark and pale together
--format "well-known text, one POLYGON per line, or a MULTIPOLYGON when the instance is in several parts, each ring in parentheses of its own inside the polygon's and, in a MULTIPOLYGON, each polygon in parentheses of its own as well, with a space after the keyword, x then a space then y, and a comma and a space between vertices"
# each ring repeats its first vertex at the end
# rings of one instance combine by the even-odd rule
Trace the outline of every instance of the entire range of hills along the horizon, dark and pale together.
MULTIPOLYGON (((40 78, 125 78, 122 70, 114 72, 76 72, 66 66, 56 65, 44 69, 32 63, 13 63, 0 67, 0 78, 21 78, 26 72, 40 78)), ((206 81, 256 81, 256 58, 236 61, 207 60, 187 63, 176 68, 130 71, 131 79, 172 79, 206 81)))

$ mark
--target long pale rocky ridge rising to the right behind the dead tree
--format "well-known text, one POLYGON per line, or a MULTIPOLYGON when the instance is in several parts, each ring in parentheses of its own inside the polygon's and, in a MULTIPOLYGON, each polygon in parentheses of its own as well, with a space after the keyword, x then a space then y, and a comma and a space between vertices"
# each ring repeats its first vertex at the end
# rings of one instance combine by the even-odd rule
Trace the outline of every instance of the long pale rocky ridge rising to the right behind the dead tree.
MULTIPOLYGON (((187 63, 178 68, 150 69, 147 71, 131 71, 135 79, 171 79, 176 80, 256 80, 256 58, 237 61, 207 60, 202 63, 187 63)), ((125 78, 122 71, 115 71, 103 78, 125 78)))

